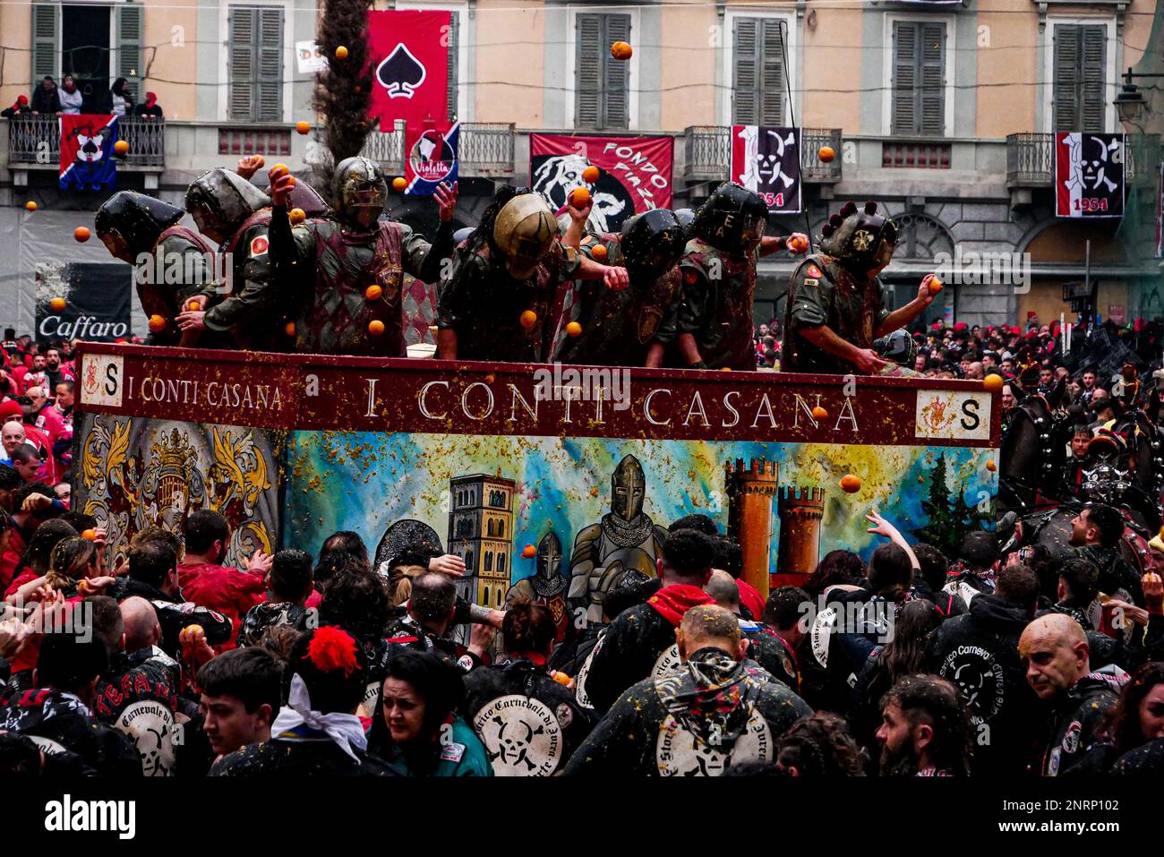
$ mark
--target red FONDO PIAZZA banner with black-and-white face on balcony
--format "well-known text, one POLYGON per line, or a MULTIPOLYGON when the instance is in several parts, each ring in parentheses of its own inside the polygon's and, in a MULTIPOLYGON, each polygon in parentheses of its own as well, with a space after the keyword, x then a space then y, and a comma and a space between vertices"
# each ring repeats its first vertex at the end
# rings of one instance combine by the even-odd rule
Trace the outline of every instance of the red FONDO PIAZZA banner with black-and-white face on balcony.
POLYGON ((575 187, 594 197, 590 222, 599 232, 618 232, 623 221, 651 208, 669 208, 674 137, 530 135, 530 186, 559 211, 575 187), (587 185, 582 171, 601 170, 587 185))

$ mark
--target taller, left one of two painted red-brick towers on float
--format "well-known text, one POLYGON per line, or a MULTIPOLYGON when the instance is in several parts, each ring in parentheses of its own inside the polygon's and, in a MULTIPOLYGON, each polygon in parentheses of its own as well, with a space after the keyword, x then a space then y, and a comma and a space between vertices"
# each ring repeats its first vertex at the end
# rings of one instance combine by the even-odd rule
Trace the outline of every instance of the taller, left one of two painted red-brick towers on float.
POLYGON ((776 496, 776 462, 744 459, 724 463, 728 488, 728 533, 744 552, 745 581, 768 596, 772 564, 772 498, 776 496))

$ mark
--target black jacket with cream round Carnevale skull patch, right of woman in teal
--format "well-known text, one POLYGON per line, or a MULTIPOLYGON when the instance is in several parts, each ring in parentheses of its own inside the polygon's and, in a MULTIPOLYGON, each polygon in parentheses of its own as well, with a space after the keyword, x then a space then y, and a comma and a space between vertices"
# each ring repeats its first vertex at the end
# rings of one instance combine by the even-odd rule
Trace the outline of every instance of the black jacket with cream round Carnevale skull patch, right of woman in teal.
POLYGON ((464 677, 466 720, 497 777, 549 777, 585 741, 591 715, 574 694, 525 658, 464 677))

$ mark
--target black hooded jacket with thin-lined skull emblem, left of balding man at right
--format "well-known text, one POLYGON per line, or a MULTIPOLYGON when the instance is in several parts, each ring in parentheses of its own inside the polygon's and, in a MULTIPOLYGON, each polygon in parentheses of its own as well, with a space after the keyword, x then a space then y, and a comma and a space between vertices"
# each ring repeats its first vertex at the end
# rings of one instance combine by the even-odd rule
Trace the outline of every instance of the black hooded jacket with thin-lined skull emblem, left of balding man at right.
POLYGON ((1021 773, 1030 758, 1038 697, 1027 682, 1018 638, 1031 618, 1020 604, 984 593, 968 612, 943 622, 927 645, 925 670, 961 690, 975 728, 989 738, 974 745, 975 774, 1021 773))

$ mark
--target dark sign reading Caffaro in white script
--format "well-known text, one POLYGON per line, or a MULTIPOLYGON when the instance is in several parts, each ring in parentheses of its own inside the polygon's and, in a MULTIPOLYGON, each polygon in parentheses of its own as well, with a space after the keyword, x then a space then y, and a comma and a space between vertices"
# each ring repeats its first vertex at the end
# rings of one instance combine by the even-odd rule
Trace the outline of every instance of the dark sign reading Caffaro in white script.
POLYGON ((107 262, 41 263, 36 268, 36 341, 128 339, 133 268, 107 262), (52 309, 54 298, 65 307, 52 309))

